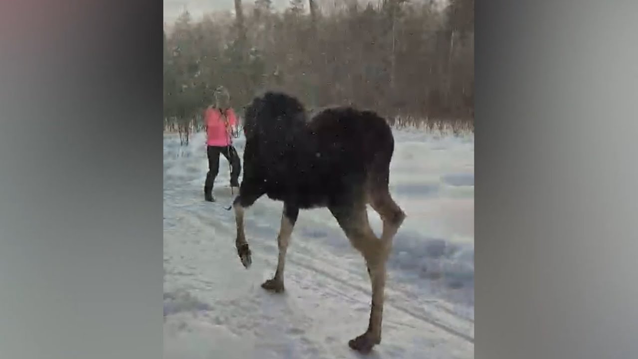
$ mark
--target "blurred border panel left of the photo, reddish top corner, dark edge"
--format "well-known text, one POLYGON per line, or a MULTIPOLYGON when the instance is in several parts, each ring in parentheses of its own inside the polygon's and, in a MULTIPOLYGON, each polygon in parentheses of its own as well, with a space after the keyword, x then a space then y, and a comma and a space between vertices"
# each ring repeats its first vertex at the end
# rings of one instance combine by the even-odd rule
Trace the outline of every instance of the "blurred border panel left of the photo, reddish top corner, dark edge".
POLYGON ((0 357, 162 356, 162 5, 0 23, 0 357))

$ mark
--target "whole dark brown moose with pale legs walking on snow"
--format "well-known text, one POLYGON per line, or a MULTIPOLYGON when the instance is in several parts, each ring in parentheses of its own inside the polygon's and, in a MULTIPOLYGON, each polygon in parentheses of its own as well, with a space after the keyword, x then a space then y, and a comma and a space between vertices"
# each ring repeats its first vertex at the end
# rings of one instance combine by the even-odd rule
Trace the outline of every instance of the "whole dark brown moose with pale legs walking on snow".
POLYGON ((246 108, 244 177, 233 202, 237 254, 249 268, 244 209, 262 195, 283 202, 274 277, 262 284, 284 290, 286 249, 299 210, 328 208, 365 259, 372 284, 369 325, 350 348, 369 352, 381 342, 386 262, 405 214, 389 192, 394 137, 385 119, 352 107, 324 109, 308 118, 303 105, 285 93, 268 92, 246 108), (370 204, 383 220, 381 238, 368 223, 370 204))

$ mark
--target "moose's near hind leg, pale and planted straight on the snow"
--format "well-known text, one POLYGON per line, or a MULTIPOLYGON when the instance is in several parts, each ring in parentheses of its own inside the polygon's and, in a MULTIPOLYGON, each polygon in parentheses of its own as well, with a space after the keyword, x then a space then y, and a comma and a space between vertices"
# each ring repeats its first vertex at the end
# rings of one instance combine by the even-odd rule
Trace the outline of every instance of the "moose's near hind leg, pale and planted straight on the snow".
POLYGON ((383 299, 385 291, 385 261, 387 252, 383 241, 376 237, 370 228, 366 206, 357 208, 330 208, 346 236, 362 254, 372 284, 372 305, 367 330, 359 337, 350 340, 350 348, 360 353, 369 353, 381 342, 381 326, 383 319, 383 299))

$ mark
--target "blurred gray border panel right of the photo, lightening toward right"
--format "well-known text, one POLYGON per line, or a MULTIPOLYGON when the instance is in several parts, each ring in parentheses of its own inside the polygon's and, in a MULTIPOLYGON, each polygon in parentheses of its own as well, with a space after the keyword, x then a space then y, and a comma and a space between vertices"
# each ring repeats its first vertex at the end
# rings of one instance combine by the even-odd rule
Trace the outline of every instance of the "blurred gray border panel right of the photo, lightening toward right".
POLYGON ((476 358, 638 358, 638 3, 477 3, 476 358))

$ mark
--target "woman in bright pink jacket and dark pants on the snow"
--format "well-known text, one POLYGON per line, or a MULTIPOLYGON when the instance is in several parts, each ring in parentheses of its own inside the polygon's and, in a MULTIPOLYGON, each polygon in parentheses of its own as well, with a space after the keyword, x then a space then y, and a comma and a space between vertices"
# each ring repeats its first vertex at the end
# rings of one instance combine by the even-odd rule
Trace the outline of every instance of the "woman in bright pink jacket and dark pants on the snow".
POLYGON ((204 199, 214 202, 212 187, 219 172, 219 154, 230 162, 230 187, 239 187, 239 172, 241 161, 232 144, 232 133, 237 128, 235 111, 230 108, 230 95, 222 86, 215 90, 215 105, 209 106, 204 112, 204 127, 206 128, 206 153, 208 156, 208 173, 204 183, 204 199))

